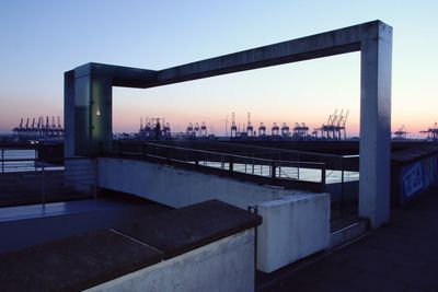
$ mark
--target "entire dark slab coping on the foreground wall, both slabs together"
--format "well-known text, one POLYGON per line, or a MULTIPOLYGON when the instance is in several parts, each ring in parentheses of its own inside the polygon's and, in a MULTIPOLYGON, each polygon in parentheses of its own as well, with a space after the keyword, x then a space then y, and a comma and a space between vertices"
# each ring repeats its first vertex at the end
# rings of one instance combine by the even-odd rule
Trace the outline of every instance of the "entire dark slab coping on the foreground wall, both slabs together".
POLYGON ((218 200, 0 255, 0 291, 78 291, 261 224, 218 200))

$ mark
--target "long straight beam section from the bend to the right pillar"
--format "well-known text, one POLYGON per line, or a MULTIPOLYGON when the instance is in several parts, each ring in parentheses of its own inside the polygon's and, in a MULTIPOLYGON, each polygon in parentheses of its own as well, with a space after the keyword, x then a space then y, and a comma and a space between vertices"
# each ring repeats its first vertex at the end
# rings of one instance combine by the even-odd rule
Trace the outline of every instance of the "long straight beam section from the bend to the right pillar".
POLYGON ((372 21, 160 70, 147 87, 357 51, 362 40, 379 37, 381 25, 372 21))

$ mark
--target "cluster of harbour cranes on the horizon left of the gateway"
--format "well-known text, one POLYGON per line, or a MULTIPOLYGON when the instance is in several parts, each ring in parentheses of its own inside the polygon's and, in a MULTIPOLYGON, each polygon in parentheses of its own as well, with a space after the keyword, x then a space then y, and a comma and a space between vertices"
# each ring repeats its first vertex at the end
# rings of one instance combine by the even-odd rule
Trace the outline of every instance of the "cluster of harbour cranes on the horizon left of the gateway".
POLYGON ((62 138, 64 137, 64 128, 61 126, 60 118, 57 117, 55 121, 55 117, 44 118, 41 116, 36 121, 35 118, 32 119, 32 124, 30 124, 30 118, 26 119, 26 124, 24 124, 24 118, 21 118, 20 125, 12 129, 13 137, 18 140, 30 140, 30 139, 47 139, 47 138, 62 138))

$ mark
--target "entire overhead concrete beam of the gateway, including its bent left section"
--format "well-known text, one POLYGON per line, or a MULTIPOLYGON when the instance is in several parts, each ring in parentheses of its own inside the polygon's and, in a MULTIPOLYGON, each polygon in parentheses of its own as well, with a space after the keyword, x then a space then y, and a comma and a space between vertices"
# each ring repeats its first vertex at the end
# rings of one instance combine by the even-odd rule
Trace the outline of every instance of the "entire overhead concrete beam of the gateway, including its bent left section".
POLYGON ((113 86, 153 87, 357 51, 364 40, 379 37, 379 28, 383 25, 381 21, 367 22, 158 71, 90 62, 76 68, 74 73, 76 78, 89 74, 111 77, 113 86))

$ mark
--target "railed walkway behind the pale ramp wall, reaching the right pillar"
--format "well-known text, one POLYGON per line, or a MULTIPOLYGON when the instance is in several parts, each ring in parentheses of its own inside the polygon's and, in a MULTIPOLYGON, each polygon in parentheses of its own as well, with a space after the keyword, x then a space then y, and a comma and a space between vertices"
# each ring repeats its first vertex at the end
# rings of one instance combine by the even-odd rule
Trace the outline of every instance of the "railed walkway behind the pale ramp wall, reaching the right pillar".
POLYGON ((334 155, 232 143, 122 142, 106 153, 279 187, 327 191, 332 208, 357 209, 359 155, 334 155), (211 149, 208 150, 208 149, 211 149), (350 207, 353 206, 353 207, 350 207))

